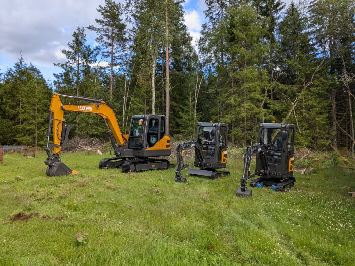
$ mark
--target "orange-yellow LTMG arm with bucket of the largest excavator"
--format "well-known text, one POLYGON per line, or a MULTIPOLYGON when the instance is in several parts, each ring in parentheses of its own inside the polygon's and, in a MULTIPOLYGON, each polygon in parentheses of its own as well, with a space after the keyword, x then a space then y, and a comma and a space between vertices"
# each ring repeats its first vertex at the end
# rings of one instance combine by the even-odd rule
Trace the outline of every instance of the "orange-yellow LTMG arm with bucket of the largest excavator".
POLYGON ((47 148, 45 149, 48 158, 44 162, 46 165, 48 165, 46 171, 48 176, 73 174, 70 168, 68 168, 64 163, 60 162, 59 157, 60 151, 64 150, 65 145, 68 141, 69 132, 73 127, 73 125, 67 125, 65 123, 66 120, 64 118, 64 111, 94 113, 102 117, 108 127, 110 141, 112 143, 116 156, 120 156, 121 150, 125 148, 128 142, 127 139, 121 133, 113 109, 104 100, 86 98, 81 96, 68 96, 55 93, 52 96, 49 111, 50 113, 47 131, 47 148), (59 96, 73 98, 81 101, 88 101, 90 103, 62 104, 59 96), (53 144, 49 145, 51 128, 53 130, 53 144), (52 149, 53 154, 51 153, 52 149))

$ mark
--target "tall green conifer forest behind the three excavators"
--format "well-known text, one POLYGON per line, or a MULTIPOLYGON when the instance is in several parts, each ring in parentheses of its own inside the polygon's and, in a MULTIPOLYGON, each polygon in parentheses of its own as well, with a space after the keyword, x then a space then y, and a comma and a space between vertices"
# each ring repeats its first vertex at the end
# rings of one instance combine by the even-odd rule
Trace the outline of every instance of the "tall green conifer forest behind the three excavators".
MULTIPOLYGON (((132 115, 167 116, 193 138, 198 121, 229 124, 229 140, 256 142, 259 122, 297 126, 296 145, 354 154, 355 4, 352 0, 206 0, 196 47, 183 1, 104 0, 79 25, 53 82, 22 54, 0 73, 0 145, 46 145, 53 92, 107 100, 127 132, 132 115), (97 34, 95 47, 86 40, 97 34)), ((70 102, 70 100, 66 100, 70 102)), ((97 116, 72 115, 74 135, 108 139, 97 116)))

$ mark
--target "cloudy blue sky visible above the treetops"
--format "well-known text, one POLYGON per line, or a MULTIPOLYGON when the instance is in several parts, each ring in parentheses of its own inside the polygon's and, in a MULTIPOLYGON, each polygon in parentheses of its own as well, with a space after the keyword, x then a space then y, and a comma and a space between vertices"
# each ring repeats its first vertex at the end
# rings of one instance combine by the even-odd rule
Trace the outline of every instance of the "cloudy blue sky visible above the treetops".
MULTIPOLYGON (((291 0, 284 0, 287 4, 291 0)), ((78 27, 95 25, 98 5, 103 0, 1 0, 0 8, 0 73, 12 67, 22 56, 32 63, 47 80, 62 69, 53 63, 65 62, 60 52, 72 41, 78 27)), ((193 44, 205 22, 204 0, 185 0, 184 20, 193 44)), ((95 33, 86 30, 88 43, 95 45, 95 33)))

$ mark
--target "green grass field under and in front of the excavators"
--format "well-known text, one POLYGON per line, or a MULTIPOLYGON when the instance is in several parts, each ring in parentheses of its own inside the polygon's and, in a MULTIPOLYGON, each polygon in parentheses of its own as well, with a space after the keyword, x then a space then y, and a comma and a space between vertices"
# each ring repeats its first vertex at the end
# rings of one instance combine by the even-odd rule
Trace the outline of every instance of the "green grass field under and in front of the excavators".
POLYGON ((103 156, 84 152, 62 157, 80 174, 48 178, 45 157, 7 154, 0 165, 0 265, 355 264, 350 170, 296 174, 289 192, 238 198, 240 158, 229 176, 182 184, 174 169, 98 170, 103 156), (19 212, 38 216, 12 221, 19 212))

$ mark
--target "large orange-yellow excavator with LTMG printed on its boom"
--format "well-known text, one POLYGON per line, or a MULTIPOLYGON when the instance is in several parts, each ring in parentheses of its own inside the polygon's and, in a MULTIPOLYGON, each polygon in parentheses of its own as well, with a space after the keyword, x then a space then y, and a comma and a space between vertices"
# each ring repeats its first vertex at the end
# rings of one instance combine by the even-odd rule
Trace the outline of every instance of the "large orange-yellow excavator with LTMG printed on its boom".
POLYGON ((46 170, 48 176, 77 173, 60 159, 60 153, 65 149, 69 132, 73 127, 73 125, 66 124, 65 112, 94 113, 103 118, 116 157, 102 159, 99 163, 100 169, 121 167, 123 172, 138 172, 167 169, 170 166, 167 159, 157 158, 169 156, 171 153, 170 137, 165 134, 166 122, 163 115, 132 116, 129 134, 123 135, 113 108, 101 99, 55 93, 52 96, 49 111, 47 147, 45 149, 48 158, 44 161, 48 165, 46 170), (90 103, 63 104, 60 97, 90 103), (51 129, 53 130, 53 144, 49 145, 51 129))

